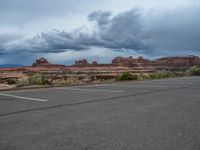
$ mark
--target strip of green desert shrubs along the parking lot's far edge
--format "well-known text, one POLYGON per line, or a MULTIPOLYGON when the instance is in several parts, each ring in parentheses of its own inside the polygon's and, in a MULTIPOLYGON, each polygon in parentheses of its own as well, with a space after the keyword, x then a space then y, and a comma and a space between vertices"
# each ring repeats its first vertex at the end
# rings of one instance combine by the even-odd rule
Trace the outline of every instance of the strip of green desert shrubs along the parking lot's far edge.
MULTIPOLYGON (((79 74, 77 72, 75 75, 79 74)), ((82 74, 82 73, 80 73, 82 74)), ((130 71, 124 72, 122 75, 115 77, 104 77, 96 79, 96 75, 93 72, 89 72, 87 75, 78 77, 63 77, 53 76, 52 78, 45 78, 43 74, 37 73, 31 75, 29 78, 22 78, 18 80, 9 79, 7 84, 14 85, 17 87, 30 86, 30 85, 71 85, 71 84, 83 84, 83 83, 100 83, 103 81, 126 81, 126 80, 151 80, 151 79, 164 79, 170 77, 180 77, 180 76, 196 76, 200 75, 200 67, 194 66, 185 70, 174 70, 174 71, 156 71, 152 73, 132 73, 130 71)), ((100 74, 100 73, 99 73, 100 74)), ((109 72, 108 72, 109 74, 109 72)))

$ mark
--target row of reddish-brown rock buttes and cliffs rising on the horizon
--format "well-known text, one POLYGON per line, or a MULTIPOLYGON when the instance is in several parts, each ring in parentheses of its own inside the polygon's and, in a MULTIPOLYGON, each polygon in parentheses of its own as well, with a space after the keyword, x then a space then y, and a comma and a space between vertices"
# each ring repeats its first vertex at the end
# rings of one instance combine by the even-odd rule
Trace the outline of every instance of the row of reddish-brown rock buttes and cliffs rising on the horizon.
MULTIPOLYGON (((111 64, 98 64, 96 61, 89 63, 86 59, 77 60, 73 67, 102 67, 102 66, 113 66, 113 67, 132 67, 132 68, 179 68, 179 67, 191 67, 200 66, 200 58, 198 56, 173 56, 173 57, 163 57, 157 60, 148 60, 143 57, 133 58, 130 57, 116 57, 112 60, 111 64)), ((66 67, 65 65, 50 64, 47 59, 39 58, 37 59, 32 67, 66 67)))

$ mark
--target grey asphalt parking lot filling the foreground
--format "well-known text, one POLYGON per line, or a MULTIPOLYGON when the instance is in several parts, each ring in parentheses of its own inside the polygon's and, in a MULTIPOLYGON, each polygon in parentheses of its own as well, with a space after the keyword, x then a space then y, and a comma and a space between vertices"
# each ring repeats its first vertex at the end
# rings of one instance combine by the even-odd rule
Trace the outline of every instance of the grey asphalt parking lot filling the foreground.
POLYGON ((200 150, 200 77, 0 92, 0 150, 200 150))

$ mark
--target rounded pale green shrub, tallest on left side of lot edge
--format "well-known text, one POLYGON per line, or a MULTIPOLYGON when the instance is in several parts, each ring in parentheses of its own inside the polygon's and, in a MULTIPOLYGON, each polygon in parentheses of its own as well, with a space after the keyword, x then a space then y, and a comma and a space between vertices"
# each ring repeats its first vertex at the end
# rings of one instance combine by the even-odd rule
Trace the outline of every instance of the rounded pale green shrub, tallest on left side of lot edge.
POLYGON ((29 78, 29 82, 31 85, 44 85, 47 84, 47 81, 44 80, 42 74, 34 74, 29 78))

